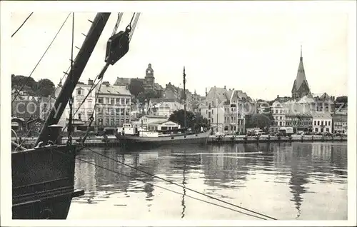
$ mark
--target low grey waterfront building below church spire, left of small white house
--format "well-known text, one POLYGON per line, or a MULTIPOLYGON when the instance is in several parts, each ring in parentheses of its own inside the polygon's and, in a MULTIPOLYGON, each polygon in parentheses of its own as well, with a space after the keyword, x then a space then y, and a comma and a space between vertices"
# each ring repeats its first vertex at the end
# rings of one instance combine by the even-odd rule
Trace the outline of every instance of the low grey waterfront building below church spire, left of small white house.
POLYGON ((286 114, 286 127, 293 127, 293 132, 312 131, 313 116, 311 114, 286 114))

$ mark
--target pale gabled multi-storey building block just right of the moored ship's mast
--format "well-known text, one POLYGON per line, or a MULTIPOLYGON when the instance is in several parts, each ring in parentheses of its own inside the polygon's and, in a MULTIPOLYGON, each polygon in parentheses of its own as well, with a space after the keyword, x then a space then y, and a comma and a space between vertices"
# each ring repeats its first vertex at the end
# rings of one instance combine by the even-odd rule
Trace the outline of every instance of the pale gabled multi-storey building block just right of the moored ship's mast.
POLYGON ((215 131, 244 133, 245 118, 242 106, 247 99, 248 96, 244 96, 239 90, 214 86, 207 93, 205 103, 201 106, 201 115, 208 119, 208 123, 215 131))

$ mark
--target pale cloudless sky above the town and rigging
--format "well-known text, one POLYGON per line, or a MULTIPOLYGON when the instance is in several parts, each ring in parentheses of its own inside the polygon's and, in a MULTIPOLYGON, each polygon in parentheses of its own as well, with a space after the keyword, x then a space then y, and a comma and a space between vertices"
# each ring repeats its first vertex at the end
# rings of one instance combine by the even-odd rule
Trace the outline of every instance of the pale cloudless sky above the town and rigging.
MULTIPOLYGON (((11 39, 11 74, 28 76, 44 54, 69 12, 36 12, 11 39)), ((94 79, 104 66, 106 41, 118 12, 113 12, 80 81, 94 79)), ((11 34, 29 12, 11 13, 11 34)), ((74 46, 80 47, 95 13, 75 12, 74 46)), ((119 30, 131 19, 124 12, 119 30)), ((64 75, 71 57, 71 16, 32 74, 51 79, 64 75)), ((118 30, 118 31, 119 31, 118 30)), ((144 11, 134 31, 129 53, 109 66, 104 80, 144 78, 152 64, 161 86, 182 87, 203 95, 205 89, 226 86, 253 99, 291 96, 301 45, 306 79, 314 94, 348 94, 348 14, 343 11, 144 11)), ((74 56, 78 53, 74 49, 74 56)))

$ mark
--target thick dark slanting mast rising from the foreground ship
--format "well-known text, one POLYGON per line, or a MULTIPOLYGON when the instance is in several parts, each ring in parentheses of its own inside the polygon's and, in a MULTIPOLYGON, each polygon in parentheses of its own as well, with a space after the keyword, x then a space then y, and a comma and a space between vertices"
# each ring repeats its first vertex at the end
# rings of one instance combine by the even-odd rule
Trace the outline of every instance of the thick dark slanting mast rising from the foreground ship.
POLYGON ((89 61, 91 53, 94 51, 94 47, 96 46, 99 37, 104 30, 104 26, 106 26, 106 22, 108 21, 110 14, 111 13, 96 14, 86 39, 84 40, 84 43, 81 46, 76 59, 74 59, 73 69, 69 72, 66 81, 64 81, 64 85, 62 86, 54 106, 52 106, 49 116, 46 118, 46 122, 41 129, 41 133, 39 138, 37 138, 36 144, 40 141, 47 143, 49 140, 49 126, 59 122, 59 118, 61 118, 64 109, 66 108, 69 99, 72 96, 76 84, 78 83, 79 78, 81 77, 81 74, 83 73, 84 68, 89 61))

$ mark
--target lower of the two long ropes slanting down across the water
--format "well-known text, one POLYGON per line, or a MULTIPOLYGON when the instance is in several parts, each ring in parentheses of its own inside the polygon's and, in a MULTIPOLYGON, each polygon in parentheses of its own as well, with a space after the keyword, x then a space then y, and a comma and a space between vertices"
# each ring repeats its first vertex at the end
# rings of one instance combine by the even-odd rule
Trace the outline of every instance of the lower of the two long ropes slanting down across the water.
MULTIPOLYGON (((54 151, 56 151, 56 152, 58 152, 58 153, 61 153, 61 154, 65 155, 65 156, 69 156, 68 154, 66 154, 66 153, 64 153, 64 152, 59 151, 57 148, 53 148, 53 149, 54 149, 54 151)), ((72 156, 70 156, 70 157, 72 157, 72 156)), ((79 161, 83 161, 84 163, 91 164, 91 165, 96 166, 96 167, 98 167, 98 168, 103 168, 103 169, 106 170, 106 171, 110 171, 110 172, 112 172, 112 173, 116 173, 116 174, 119 174, 119 175, 121 175, 121 176, 126 176, 127 178, 135 178, 134 176, 129 176, 129 175, 125 174, 125 173, 121 173, 121 172, 118 172, 118 171, 114 171, 114 170, 111 170, 110 168, 106 168, 106 167, 104 167, 104 166, 99 166, 99 165, 97 165, 96 163, 92 163, 92 162, 90 162, 90 161, 86 161, 86 160, 83 160, 83 159, 78 158, 78 157, 75 157, 75 158, 76 158, 77 160, 79 160, 79 161)), ((141 181, 141 182, 143 182, 143 183, 149 184, 150 186, 154 186, 154 187, 157 187, 157 188, 164 189, 164 190, 166 190, 166 191, 171 191, 172 193, 176 193, 176 194, 179 194, 179 195, 183 195, 183 193, 180 193, 180 192, 178 192, 178 191, 174 191, 174 190, 171 190, 171 189, 169 189, 169 188, 165 188, 165 187, 163 187, 163 186, 158 186, 158 185, 155 185, 154 183, 148 183, 148 182, 143 181, 143 180, 138 179, 138 178, 135 178, 135 179, 136 179, 136 181, 141 181)), ((187 189, 187 188, 186 188, 186 189, 187 189)), ((193 197, 193 196, 188 196, 188 195, 185 195, 185 196, 187 196, 188 198, 193 198, 194 200, 197 200, 197 201, 201 201, 201 202, 203 202, 203 203, 208 203, 208 204, 211 204, 211 205, 214 205, 214 206, 218 206, 218 207, 221 207, 221 208, 226 208, 226 209, 228 209, 228 210, 235 211, 235 212, 237 212, 237 213, 241 213, 241 214, 244 214, 244 215, 247 215, 247 216, 251 216, 251 217, 254 217, 254 218, 260 218, 260 219, 266 220, 266 218, 262 218, 262 217, 259 217, 259 216, 255 216, 255 215, 252 215, 252 214, 250 214, 250 213, 245 213, 245 212, 243 212, 243 211, 238 211, 238 210, 233 209, 233 208, 230 208, 230 207, 228 207, 228 206, 222 206, 222 205, 219 205, 219 204, 217 204, 217 203, 213 203, 213 202, 210 202, 210 201, 205 201, 205 200, 203 200, 203 199, 201 199, 201 198, 196 198, 196 197, 193 197)))

